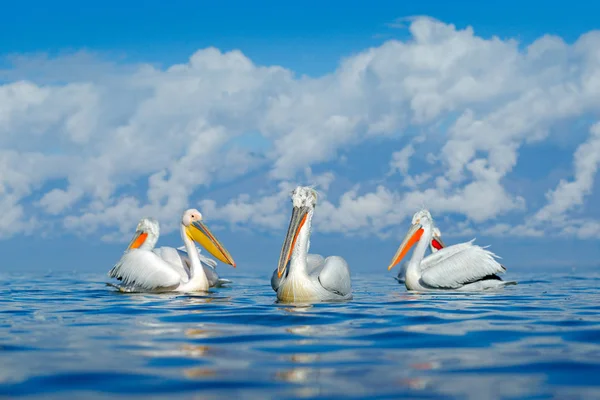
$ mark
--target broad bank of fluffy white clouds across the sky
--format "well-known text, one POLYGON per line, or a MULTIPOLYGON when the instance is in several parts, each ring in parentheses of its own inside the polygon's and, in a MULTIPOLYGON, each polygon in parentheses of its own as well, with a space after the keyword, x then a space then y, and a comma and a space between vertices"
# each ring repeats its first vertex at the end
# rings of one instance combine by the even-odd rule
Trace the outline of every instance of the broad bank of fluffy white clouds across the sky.
POLYGON ((0 71, 0 237, 28 234, 35 216, 123 240, 143 215, 172 231, 193 205, 280 228, 297 182, 321 193, 326 232, 385 236, 425 205, 463 233, 600 236, 580 216, 600 161, 600 32, 523 44, 429 18, 409 30, 316 78, 215 48, 166 68, 14 59, 0 71), (565 133, 578 120, 586 137, 565 133), (557 137, 579 142, 540 205, 514 172, 524 147, 557 137), (347 164, 371 176, 336 169, 347 164), (199 196, 256 174, 261 185, 228 199, 199 196))

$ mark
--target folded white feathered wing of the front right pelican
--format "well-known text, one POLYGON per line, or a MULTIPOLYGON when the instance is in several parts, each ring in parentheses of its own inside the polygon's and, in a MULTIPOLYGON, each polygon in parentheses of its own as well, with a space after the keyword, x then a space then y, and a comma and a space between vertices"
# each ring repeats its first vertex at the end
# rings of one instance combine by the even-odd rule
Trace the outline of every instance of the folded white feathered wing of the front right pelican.
MULTIPOLYGON (((428 262, 421 281, 430 287, 456 289, 483 277, 500 274, 506 269, 495 258, 500 258, 483 247, 472 245, 452 249, 445 247, 430 257, 439 257, 436 263, 428 262)), ((465 245, 465 243, 463 243, 465 245)))

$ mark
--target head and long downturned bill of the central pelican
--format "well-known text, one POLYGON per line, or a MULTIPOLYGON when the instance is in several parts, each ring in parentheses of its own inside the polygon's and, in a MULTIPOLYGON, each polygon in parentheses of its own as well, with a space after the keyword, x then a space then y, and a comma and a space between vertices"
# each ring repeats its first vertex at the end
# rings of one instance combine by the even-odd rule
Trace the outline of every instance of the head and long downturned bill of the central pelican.
POLYGON ((279 255, 279 264, 277 265, 277 276, 283 276, 287 264, 292 256, 292 251, 296 244, 296 239, 300 230, 304 226, 308 215, 313 212, 317 205, 317 191, 310 186, 298 186, 292 191, 292 218, 288 227, 287 235, 279 255))

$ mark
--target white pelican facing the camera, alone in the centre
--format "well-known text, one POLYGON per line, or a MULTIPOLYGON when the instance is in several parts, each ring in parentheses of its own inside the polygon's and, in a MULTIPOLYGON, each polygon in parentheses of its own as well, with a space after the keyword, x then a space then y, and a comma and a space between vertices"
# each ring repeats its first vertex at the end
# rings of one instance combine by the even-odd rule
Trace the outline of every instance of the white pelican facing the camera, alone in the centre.
POLYGON ((298 186, 292 192, 292 218, 271 286, 282 301, 312 302, 352 298, 350 270, 339 256, 308 254, 317 192, 298 186))

